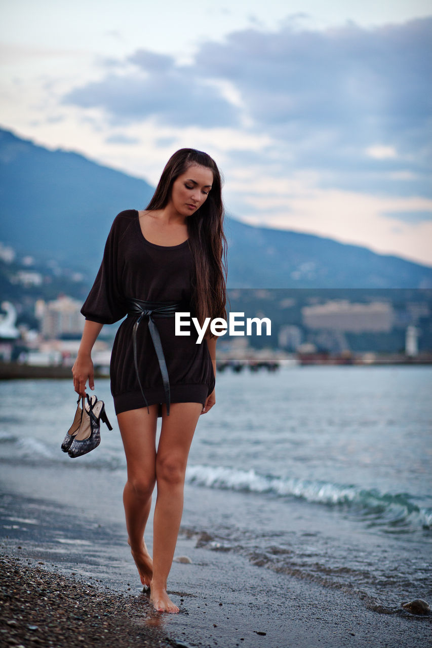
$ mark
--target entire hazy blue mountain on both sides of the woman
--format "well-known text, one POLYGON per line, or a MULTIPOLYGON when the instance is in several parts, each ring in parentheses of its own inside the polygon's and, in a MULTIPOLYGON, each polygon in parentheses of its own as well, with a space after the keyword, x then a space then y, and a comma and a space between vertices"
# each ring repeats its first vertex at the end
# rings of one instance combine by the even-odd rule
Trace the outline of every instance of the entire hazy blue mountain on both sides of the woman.
MULTIPOLYGON (((154 188, 75 152, 0 129, 0 241, 93 280, 115 214, 143 209, 154 188)), ((331 238, 226 218, 228 286, 431 288, 432 268, 331 238)))

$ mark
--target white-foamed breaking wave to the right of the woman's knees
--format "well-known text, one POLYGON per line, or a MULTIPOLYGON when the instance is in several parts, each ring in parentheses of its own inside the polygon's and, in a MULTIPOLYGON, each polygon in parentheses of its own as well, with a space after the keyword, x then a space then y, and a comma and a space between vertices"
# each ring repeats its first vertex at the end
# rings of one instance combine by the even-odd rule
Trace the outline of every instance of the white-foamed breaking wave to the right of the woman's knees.
POLYGON ((369 526, 385 524, 387 531, 407 527, 432 529, 432 509, 411 502, 413 495, 381 493, 320 480, 301 480, 261 475, 256 470, 237 470, 223 466, 188 466, 187 483, 230 491, 269 493, 278 497, 293 496, 310 503, 345 506, 360 511, 369 526))

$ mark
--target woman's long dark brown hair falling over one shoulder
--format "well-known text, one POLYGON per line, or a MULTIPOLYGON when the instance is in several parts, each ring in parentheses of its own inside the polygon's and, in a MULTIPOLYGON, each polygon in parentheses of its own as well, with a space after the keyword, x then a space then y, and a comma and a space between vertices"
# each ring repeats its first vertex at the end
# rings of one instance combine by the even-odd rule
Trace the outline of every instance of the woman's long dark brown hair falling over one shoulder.
MULTIPOLYGON (((223 231, 222 179, 213 158, 195 148, 180 148, 169 158, 147 210, 164 209, 171 198, 173 183, 191 165, 210 168, 211 190, 194 214, 187 216, 189 248, 195 259, 196 277, 191 305, 200 325, 206 317, 226 319, 226 247, 223 231)), ((206 331, 206 337, 215 337, 206 331)))

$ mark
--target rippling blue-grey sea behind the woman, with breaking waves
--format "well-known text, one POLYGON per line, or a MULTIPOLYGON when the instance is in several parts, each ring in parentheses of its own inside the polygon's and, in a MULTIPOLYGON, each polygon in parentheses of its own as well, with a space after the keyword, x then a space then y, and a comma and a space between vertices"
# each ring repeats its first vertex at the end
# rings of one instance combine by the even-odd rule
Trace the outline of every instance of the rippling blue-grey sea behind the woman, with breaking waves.
MULTIPOLYGON (((109 380, 94 393, 114 430, 102 426, 101 445, 70 459, 60 445, 76 408, 72 382, 0 384, 0 470, 17 476, 6 489, 37 468, 32 495, 61 502, 50 480, 60 469, 73 484, 79 465, 89 498, 111 491, 121 507, 126 463, 109 380)), ((189 454, 180 536, 377 612, 430 599, 431 395, 429 366, 218 372, 217 402, 189 454)))

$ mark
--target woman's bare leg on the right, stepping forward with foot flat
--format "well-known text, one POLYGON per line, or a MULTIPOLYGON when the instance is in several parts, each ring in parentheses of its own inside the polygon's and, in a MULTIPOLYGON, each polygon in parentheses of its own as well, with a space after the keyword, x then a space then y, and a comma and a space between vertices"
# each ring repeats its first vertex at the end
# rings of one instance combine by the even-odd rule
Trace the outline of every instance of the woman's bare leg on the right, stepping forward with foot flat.
POLYGON ((153 520, 153 576, 150 601, 158 612, 178 612, 167 594, 167 579, 183 512, 187 456, 202 404, 172 403, 169 416, 163 406, 162 430, 156 454, 158 496, 153 520))

